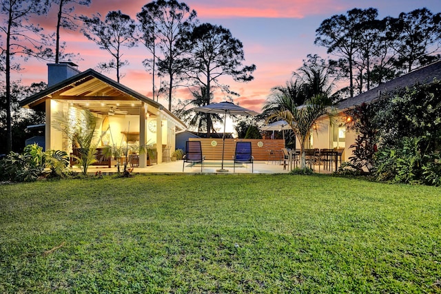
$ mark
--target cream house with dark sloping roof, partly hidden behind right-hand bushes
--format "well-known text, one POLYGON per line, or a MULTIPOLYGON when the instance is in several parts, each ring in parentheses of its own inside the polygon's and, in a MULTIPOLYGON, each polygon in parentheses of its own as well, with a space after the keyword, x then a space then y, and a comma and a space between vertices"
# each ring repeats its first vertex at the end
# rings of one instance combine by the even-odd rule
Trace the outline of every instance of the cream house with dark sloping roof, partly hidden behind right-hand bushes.
MULTIPOLYGON (((341 116, 348 109, 362 105, 362 103, 378 101, 383 94, 392 93, 399 88, 411 87, 418 83, 432 83, 434 79, 441 80, 441 61, 420 67, 358 96, 341 101, 336 105, 334 116, 341 116)), ((319 120, 313 136, 311 136, 310 145, 312 148, 318 149, 342 148, 345 150, 342 159, 347 161, 352 156, 352 151, 349 147, 356 142, 356 136, 357 134, 347 130, 343 123, 331 123, 329 116, 324 116, 319 120)))

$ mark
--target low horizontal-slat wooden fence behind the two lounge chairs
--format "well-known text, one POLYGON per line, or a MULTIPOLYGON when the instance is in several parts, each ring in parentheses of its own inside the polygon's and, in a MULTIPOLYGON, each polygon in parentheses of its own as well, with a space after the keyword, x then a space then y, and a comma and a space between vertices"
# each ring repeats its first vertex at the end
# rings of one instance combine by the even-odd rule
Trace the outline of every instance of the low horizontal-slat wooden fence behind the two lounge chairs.
MULTIPOLYGON (((216 138, 189 138, 191 141, 201 141, 202 154, 208 160, 222 159, 222 139, 216 138)), ((224 160, 232 160, 236 150, 236 142, 244 141, 252 143, 252 155, 254 160, 269 160, 269 151, 282 150, 285 148, 284 140, 265 139, 225 139, 224 160)))

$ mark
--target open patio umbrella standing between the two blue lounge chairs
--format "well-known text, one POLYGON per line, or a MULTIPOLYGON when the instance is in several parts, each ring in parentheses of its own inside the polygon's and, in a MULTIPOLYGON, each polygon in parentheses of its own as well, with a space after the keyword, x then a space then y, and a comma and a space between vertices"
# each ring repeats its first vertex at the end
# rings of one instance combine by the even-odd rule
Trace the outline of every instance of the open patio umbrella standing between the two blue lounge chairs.
POLYGON ((240 107, 231 102, 223 101, 220 103, 211 103, 209 105, 195 107, 192 110, 195 112, 203 112, 205 114, 225 114, 225 118, 223 120, 223 136, 222 136, 222 167, 217 171, 223 172, 228 171, 223 168, 223 155, 225 151, 225 123, 227 122, 227 114, 236 116, 256 116, 258 113, 254 112, 254 110, 250 110, 244 107, 240 107))

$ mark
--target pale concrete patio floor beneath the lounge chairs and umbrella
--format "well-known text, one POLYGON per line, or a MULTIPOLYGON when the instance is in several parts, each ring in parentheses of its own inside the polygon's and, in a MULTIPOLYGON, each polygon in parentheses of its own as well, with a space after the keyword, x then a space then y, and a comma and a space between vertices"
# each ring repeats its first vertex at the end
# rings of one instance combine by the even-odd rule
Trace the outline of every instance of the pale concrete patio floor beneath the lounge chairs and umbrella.
MULTIPOLYGON (((203 170, 201 172, 201 166, 189 167, 189 163, 185 163, 184 171, 183 161, 176 160, 170 162, 163 162, 158 165, 150 165, 148 167, 133 167, 132 174, 252 174, 252 165, 244 164, 242 167, 236 165, 235 171, 233 171, 232 161, 225 160, 224 169, 227 169, 227 172, 218 171, 220 169, 220 161, 219 160, 205 160, 203 170)), ((74 168, 74 171, 78 171, 79 169, 74 168)), ((97 171, 101 171, 102 174, 116 174, 116 167, 96 167, 90 166, 88 169, 88 174, 94 175, 97 171)), ((123 171, 123 167, 120 167, 120 171, 123 171)), ((329 174, 331 171, 320 169, 316 165, 314 167, 314 171, 316 173, 320 172, 320 174, 329 174)), ((254 174, 288 174, 289 168, 283 169, 283 164, 279 161, 267 161, 267 160, 256 160, 254 161, 254 174)))

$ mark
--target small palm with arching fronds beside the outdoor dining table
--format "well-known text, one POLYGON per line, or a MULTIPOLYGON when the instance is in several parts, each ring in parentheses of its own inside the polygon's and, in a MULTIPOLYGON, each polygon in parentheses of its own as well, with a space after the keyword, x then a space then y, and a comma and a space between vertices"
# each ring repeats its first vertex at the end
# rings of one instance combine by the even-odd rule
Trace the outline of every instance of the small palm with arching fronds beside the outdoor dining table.
POLYGON ((325 96, 309 98, 305 104, 297 105, 294 97, 280 94, 277 98, 279 109, 269 116, 285 120, 300 142, 300 168, 305 169, 305 144, 316 120, 327 113, 329 99, 325 96))

